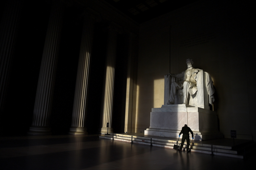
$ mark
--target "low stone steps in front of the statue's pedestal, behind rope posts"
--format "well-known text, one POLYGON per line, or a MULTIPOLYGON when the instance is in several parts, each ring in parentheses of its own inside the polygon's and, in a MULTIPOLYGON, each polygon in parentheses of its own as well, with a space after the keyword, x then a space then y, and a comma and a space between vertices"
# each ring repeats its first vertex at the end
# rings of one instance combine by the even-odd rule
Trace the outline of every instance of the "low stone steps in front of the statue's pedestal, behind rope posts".
MULTIPOLYGON (((99 137, 112 140, 113 134, 99 136, 99 137)), ((137 143, 137 144, 143 144, 143 145, 150 146, 150 138, 149 137, 133 136, 132 140, 131 140, 131 137, 132 137, 131 135, 114 134, 114 140, 116 140, 116 141, 129 142, 129 143, 133 142, 133 143, 137 143), (142 140, 144 140, 144 142, 142 142, 142 140)), ((179 141, 178 145, 180 145, 180 142, 181 141, 179 141)), ((173 149, 174 144, 176 144, 176 141, 174 141, 174 140, 152 138, 152 146, 173 149)), ((186 152, 185 151, 186 147, 187 147, 187 145, 185 142, 183 149, 182 149, 184 152, 186 152)), ((237 151, 234 151, 231 149, 232 149, 232 147, 228 147, 228 146, 209 145, 209 144, 201 144, 201 143, 193 142, 192 147, 191 147, 191 152, 212 154, 212 151, 213 151, 213 155, 226 156, 226 157, 232 157, 232 158, 241 158, 241 159, 244 158, 243 155, 237 155, 237 151), (212 149, 211 146, 215 146, 218 148, 213 147, 213 149, 212 149)))

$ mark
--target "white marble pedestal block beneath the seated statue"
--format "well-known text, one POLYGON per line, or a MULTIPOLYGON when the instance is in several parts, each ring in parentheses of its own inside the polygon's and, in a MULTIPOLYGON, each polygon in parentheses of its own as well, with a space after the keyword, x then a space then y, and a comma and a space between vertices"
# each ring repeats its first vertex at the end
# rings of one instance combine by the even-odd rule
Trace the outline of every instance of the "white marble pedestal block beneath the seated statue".
MULTIPOLYGON (((145 135, 179 138, 181 128, 187 124, 193 131, 194 140, 222 138, 218 131, 216 112, 187 104, 162 105, 152 108, 150 127, 145 135)), ((190 138, 192 139, 191 135, 190 138)))

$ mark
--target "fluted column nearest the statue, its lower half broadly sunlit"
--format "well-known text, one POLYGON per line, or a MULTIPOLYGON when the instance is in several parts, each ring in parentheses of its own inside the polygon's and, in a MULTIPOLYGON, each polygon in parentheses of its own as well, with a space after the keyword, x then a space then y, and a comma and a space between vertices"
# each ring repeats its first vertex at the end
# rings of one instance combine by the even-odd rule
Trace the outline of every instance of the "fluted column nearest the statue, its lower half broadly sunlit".
POLYGON ((114 78, 115 78, 115 61, 116 61, 116 44, 117 34, 122 33, 120 26, 111 23, 108 28, 107 56, 105 65, 105 84, 101 105, 100 133, 112 133, 112 106, 114 97, 114 78), (107 128, 109 123, 109 128, 107 128))

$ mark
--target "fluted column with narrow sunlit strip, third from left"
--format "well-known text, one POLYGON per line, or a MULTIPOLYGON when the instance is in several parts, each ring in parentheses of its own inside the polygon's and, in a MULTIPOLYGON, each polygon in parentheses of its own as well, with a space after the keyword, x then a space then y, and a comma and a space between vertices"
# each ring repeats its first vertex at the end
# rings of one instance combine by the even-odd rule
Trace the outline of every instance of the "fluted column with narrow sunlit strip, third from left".
POLYGON ((97 12, 85 9, 83 32, 76 75, 76 88, 72 112, 71 128, 69 134, 87 134, 85 127, 86 109, 88 100, 88 83, 90 72, 90 56, 92 52, 92 40, 95 21, 101 17, 97 12))

